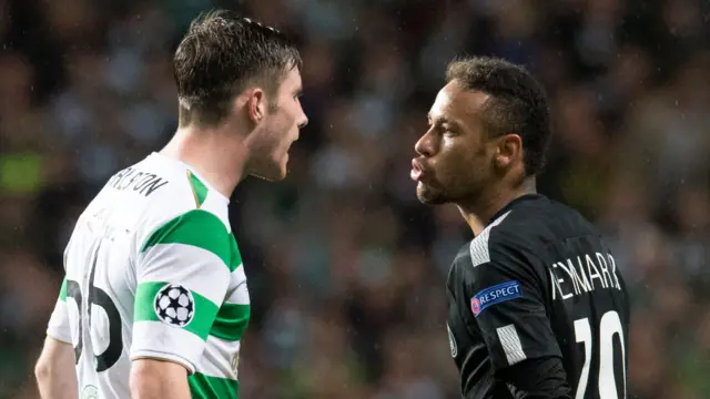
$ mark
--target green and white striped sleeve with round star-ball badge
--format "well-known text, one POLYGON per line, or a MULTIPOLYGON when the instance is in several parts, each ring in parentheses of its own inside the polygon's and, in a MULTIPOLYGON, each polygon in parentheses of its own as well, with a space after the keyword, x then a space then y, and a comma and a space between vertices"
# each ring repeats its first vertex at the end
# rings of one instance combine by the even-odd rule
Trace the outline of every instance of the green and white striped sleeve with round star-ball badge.
POLYGON ((136 262, 131 359, 158 358, 195 371, 236 267, 219 217, 190 211, 156 228, 136 262))

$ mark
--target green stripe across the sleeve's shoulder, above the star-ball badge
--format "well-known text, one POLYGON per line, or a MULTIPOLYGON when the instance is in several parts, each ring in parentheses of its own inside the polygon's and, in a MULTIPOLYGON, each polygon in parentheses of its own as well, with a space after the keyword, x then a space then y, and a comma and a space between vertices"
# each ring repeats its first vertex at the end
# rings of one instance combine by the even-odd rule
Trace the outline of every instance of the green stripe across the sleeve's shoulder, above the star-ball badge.
POLYGON ((222 221, 210 212, 193 209, 160 226, 145 241, 141 252, 158 244, 183 244, 213 253, 234 272, 232 243, 222 221))

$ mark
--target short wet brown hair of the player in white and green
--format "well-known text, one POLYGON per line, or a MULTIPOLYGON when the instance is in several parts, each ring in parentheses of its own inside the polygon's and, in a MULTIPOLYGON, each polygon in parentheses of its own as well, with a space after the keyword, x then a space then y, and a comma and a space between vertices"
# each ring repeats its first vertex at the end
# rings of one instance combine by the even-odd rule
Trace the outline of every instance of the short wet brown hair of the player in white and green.
POLYGON ((298 50, 280 31, 232 11, 204 13, 173 58, 180 125, 214 126, 250 84, 275 94, 286 73, 301 66, 298 50))

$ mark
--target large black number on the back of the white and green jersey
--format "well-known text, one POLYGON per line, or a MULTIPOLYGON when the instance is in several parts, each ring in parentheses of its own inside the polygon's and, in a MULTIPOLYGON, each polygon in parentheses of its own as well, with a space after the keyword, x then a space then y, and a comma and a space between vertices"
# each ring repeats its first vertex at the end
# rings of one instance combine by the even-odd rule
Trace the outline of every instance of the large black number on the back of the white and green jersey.
MULTIPOLYGON (((121 332, 121 315, 119 309, 111 300, 109 294, 99 287, 94 287, 93 278, 97 269, 97 259, 99 257, 99 248, 93 254, 93 265, 91 266, 91 274, 89 276, 89 304, 87 304, 87 315, 89 316, 89 328, 91 328, 91 307, 99 306, 106 314, 109 320, 109 346, 103 354, 94 356, 94 365, 97 365, 97 371, 105 371, 111 366, 115 365, 123 351, 123 337, 121 332)), ((79 341, 74 346, 74 355, 77 362, 81 357, 83 349, 83 323, 81 321, 83 310, 83 298, 81 295, 81 288, 79 283, 74 280, 67 280, 67 296, 73 298, 77 301, 79 308, 79 341)))

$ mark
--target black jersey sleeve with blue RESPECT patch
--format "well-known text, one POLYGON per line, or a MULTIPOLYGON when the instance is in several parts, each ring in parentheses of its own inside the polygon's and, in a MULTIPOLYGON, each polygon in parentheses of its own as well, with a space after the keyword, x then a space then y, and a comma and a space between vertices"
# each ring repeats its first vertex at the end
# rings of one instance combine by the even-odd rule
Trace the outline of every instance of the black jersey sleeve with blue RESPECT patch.
POLYGON ((532 265, 537 259, 503 245, 491 245, 487 250, 486 262, 474 265, 470 307, 494 369, 499 371, 526 359, 561 357, 541 280, 532 265))

